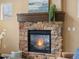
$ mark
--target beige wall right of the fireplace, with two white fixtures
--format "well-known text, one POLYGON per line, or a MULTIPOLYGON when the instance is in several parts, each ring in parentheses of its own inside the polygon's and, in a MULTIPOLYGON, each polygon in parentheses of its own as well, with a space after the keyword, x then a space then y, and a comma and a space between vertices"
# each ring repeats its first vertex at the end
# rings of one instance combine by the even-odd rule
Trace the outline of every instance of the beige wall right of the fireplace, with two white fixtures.
POLYGON ((77 1, 76 0, 64 0, 66 19, 64 27, 64 51, 75 51, 79 47, 79 18, 77 17, 77 1), (68 31, 70 27, 71 31, 68 31), (72 31, 75 27, 76 31, 72 31))

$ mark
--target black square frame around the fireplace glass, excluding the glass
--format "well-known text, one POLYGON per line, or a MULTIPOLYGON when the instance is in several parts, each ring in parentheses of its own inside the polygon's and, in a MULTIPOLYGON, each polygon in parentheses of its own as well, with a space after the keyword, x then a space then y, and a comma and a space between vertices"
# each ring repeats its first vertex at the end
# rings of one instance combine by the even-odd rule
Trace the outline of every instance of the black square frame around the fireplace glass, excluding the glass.
POLYGON ((51 30, 28 30, 28 52, 38 52, 38 53, 51 53, 51 30), (39 31, 39 33, 36 33, 39 31), (31 51, 30 50, 30 34, 42 34, 42 35, 50 35, 49 36, 49 51, 31 51))

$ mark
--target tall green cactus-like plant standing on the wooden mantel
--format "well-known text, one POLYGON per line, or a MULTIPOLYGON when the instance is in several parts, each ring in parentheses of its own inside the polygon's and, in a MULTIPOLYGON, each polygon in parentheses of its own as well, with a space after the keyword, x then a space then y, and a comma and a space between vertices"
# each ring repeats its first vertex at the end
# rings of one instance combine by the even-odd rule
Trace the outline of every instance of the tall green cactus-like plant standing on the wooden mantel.
POLYGON ((49 21, 55 21, 55 12, 57 11, 56 5, 49 6, 49 21))

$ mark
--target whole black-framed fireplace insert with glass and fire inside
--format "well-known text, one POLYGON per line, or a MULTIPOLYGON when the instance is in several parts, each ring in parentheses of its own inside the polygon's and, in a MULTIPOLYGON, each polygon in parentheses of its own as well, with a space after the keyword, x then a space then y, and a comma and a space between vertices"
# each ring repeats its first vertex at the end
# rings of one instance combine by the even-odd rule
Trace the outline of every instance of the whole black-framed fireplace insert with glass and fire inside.
POLYGON ((28 30, 28 51, 51 53, 51 30, 28 30))

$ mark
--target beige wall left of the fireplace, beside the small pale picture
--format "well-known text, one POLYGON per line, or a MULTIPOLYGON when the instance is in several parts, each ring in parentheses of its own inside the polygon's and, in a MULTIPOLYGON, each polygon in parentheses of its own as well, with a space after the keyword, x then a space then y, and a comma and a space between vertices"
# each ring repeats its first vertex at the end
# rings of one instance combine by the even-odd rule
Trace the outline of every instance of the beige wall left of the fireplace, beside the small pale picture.
POLYGON ((5 19, 7 37, 5 39, 6 48, 4 52, 19 50, 19 26, 17 22, 17 13, 27 13, 27 0, 2 0, 2 3, 12 3, 13 15, 10 19, 5 19))

